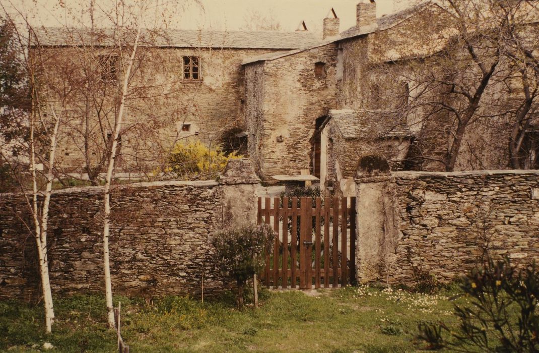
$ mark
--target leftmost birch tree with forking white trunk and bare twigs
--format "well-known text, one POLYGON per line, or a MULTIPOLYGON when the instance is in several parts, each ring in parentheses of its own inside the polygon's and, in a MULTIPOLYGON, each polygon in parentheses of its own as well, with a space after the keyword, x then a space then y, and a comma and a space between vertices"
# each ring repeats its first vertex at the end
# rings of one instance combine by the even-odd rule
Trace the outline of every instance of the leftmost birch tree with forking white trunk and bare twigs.
POLYGON ((19 82, 20 87, 16 88, 26 87, 30 92, 19 90, 19 96, 12 97, 14 103, 3 106, 3 125, 10 128, 3 130, 2 137, 4 142, 9 142, 9 146, 2 146, 0 157, 10 166, 13 180, 16 180, 24 196, 26 211, 31 215, 31 223, 27 223, 21 215, 16 214, 36 242, 45 329, 50 333, 54 323, 54 305, 47 248, 49 212, 60 126, 65 121, 64 107, 77 87, 57 85, 57 80, 42 70, 43 53, 30 49, 35 44, 30 24, 25 21, 27 35, 23 34, 5 9, 4 13, 8 17, 12 36, 11 60, 24 68, 24 79, 21 80, 24 82, 19 82), (29 101, 28 109, 25 109, 25 101, 29 101), (17 152, 17 158, 13 157, 13 151, 17 152), (30 175, 30 187, 27 186, 25 174, 30 175))

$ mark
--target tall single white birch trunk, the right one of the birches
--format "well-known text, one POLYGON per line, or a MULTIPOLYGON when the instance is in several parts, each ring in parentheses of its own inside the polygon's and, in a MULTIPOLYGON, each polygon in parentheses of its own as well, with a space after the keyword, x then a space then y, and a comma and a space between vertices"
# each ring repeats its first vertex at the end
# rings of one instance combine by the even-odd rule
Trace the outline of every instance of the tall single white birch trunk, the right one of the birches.
POLYGON ((118 136, 120 134, 123 118, 123 109, 125 107, 125 101, 127 96, 127 88, 129 83, 129 76, 131 74, 131 69, 133 67, 133 60, 135 59, 135 53, 137 50, 137 45, 139 44, 139 37, 141 32, 141 26, 137 28, 135 43, 133 45, 133 51, 129 57, 129 62, 127 63, 127 70, 125 76, 123 77, 123 86, 122 86, 122 96, 120 100, 120 107, 118 110, 118 116, 114 124, 113 140, 112 146, 110 147, 110 157, 108 160, 107 175, 105 178, 105 188, 104 193, 104 207, 105 215, 103 216, 103 268, 105 269, 105 298, 107 303, 107 313, 108 313, 108 325, 110 328, 114 328, 114 308, 112 304, 112 282, 110 280, 110 261, 109 261, 109 249, 108 249, 108 238, 109 238, 109 228, 110 228, 110 183, 112 182, 112 175, 114 173, 114 158, 116 157, 116 146, 118 146, 118 136))

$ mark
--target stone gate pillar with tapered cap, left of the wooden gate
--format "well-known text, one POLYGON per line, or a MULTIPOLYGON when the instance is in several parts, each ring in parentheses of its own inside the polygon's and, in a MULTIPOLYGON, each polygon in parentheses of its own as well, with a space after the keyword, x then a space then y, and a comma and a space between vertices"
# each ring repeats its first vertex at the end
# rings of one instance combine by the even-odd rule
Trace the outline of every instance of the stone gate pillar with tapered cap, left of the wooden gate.
POLYGON ((220 205, 216 227, 237 227, 257 222, 257 187, 260 179, 248 159, 232 159, 219 177, 220 205))

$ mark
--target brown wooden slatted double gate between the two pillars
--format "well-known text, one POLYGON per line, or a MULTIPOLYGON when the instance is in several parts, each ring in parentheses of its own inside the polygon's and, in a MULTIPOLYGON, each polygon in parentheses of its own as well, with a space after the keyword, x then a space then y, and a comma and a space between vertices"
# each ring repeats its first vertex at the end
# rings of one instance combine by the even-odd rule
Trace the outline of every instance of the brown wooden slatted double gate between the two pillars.
POLYGON ((260 275, 272 288, 328 288, 356 277, 356 198, 258 198, 275 243, 260 275), (263 207, 263 208, 262 208, 263 207))

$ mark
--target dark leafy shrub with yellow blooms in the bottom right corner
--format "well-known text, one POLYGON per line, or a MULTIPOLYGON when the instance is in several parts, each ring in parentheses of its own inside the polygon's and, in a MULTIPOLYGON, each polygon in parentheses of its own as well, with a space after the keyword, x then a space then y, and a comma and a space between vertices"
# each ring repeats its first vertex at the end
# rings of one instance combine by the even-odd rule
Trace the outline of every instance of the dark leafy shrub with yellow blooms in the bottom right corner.
MULTIPOLYGON (((473 345, 481 351, 539 351, 539 272, 535 263, 517 270, 509 259, 488 260, 484 268, 474 268, 461 285, 472 298, 471 306, 455 306, 460 330, 453 332, 444 323, 419 327, 422 336, 439 336, 441 329, 455 340, 455 346, 473 345)), ((429 338, 430 340, 430 338, 429 338)))

